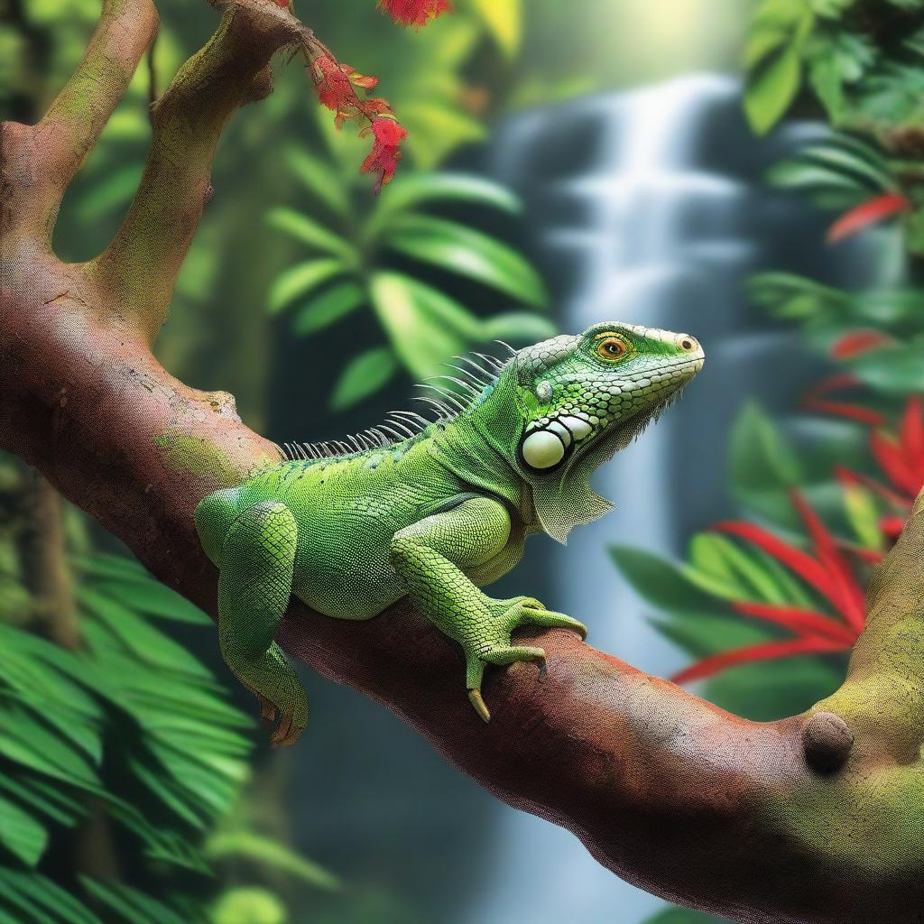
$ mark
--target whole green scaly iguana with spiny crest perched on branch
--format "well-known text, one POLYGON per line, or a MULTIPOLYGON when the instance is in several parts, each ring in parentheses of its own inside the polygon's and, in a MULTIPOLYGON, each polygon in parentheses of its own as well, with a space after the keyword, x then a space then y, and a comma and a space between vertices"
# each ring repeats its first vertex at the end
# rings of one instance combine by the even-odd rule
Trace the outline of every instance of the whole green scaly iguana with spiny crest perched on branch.
POLYGON ((293 456, 196 508, 202 546, 217 565, 218 639, 225 662, 293 742, 308 717, 305 692, 274 642, 294 594, 337 619, 371 619, 409 596, 462 646, 468 698, 481 698, 487 664, 535 662, 541 648, 511 643, 519 626, 585 626, 531 597, 479 590, 517 565, 524 541, 564 542, 612 505, 590 475, 638 435, 702 368, 688 334, 596 324, 505 362, 475 354, 454 367, 455 391, 430 386, 435 420, 393 412, 348 443, 305 444, 293 456))

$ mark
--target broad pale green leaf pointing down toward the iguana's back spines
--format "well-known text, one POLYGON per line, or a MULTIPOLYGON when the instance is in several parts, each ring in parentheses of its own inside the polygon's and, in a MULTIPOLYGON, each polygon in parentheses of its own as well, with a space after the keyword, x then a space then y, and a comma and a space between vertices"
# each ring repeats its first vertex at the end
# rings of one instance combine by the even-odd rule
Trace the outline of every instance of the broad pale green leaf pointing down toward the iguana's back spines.
POLYGON ((372 306, 407 371, 424 379, 440 363, 461 353, 478 319, 432 286, 398 273, 377 273, 370 287, 372 306))

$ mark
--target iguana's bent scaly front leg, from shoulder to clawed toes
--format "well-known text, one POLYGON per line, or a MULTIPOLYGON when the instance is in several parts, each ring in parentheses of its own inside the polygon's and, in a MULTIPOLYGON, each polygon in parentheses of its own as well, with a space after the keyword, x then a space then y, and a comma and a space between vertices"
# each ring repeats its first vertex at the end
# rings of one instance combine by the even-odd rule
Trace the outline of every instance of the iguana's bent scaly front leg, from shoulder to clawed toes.
POLYGON ((488 722, 491 713, 481 698, 486 664, 535 662, 545 671, 545 651, 512 645, 519 626, 563 626, 581 638, 587 628, 560 613, 550 613, 531 597, 493 600, 465 575, 504 552, 510 538, 510 515, 489 497, 473 497, 395 533, 392 564, 407 593, 446 636, 465 652, 468 699, 488 722))

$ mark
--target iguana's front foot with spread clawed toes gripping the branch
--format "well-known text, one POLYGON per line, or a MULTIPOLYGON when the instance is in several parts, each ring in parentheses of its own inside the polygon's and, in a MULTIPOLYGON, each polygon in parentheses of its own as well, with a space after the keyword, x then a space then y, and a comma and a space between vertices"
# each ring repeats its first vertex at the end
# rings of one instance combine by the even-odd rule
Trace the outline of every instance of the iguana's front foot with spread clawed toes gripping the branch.
POLYGON ((531 645, 513 645, 510 636, 523 626, 571 629, 581 638, 587 638, 587 626, 563 613, 547 610, 532 597, 513 597, 510 600, 491 601, 492 622, 480 633, 477 644, 464 646, 466 652, 466 679, 468 700, 485 722, 491 721, 481 696, 481 679, 487 664, 506 666, 517 662, 539 665, 539 679, 546 674, 545 650, 531 645))

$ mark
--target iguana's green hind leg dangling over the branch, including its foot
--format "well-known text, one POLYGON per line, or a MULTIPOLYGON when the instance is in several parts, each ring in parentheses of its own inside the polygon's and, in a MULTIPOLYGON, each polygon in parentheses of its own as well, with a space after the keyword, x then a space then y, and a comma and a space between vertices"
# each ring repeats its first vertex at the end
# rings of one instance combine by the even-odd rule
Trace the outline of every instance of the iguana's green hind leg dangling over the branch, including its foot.
POLYGON ((308 721, 308 700, 274 642, 292 593, 298 526, 285 504, 249 507, 231 524, 218 577, 218 641, 225 663, 274 723, 274 745, 292 744, 308 721))

